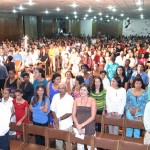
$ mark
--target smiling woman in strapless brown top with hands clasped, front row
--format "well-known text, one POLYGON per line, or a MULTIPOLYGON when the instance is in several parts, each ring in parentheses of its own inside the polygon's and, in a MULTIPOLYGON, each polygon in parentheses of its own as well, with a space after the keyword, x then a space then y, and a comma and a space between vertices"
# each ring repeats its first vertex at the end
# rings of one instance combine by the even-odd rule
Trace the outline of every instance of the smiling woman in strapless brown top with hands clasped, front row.
MULTIPOLYGON (((95 135, 96 100, 89 97, 90 89, 86 84, 80 86, 81 97, 73 104, 72 117, 76 134, 95 135)), ((77 149, 84 150, 84 145, 77 144, 77 149)), ((88 149, 90 147, 88 146, 88 149)))

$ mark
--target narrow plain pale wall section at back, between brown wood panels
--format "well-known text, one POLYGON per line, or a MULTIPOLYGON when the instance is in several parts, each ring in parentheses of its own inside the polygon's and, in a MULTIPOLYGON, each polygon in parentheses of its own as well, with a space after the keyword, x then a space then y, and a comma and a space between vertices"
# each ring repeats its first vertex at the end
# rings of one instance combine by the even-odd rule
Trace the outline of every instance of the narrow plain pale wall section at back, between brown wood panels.
POLYGON ((80 21, 80 34, 92 36, 92 20, 80 21))

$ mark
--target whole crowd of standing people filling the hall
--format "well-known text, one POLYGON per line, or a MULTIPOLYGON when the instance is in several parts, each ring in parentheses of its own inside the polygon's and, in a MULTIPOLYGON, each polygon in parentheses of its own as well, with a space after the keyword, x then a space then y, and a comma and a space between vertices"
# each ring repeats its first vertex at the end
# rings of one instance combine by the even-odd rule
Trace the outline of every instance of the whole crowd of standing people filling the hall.
MULTIPOLYGON (((51 124, 80 138, 95 135, 101 129, 95 116, 103 110, 110 117, 143 120, 146 105, 149 109, 149 68, 149 37, 41 38, 30 40, 28 48, 21 40, 6 40, 0 44, 1 103, 18 126, 28 123, 30 111, 34 125, 51 124)), ((117 126, 108 129, 119 134, 117 126)), ((8 136, 5 130, 0 138, 8 136)), ((126 136, 140 138, 140 130, 128 128, 126 136)), ((36 136, 36 143, 43 145, 44 138, 36 136)), ((56 141, 61 150, 62 144, 56 141)))

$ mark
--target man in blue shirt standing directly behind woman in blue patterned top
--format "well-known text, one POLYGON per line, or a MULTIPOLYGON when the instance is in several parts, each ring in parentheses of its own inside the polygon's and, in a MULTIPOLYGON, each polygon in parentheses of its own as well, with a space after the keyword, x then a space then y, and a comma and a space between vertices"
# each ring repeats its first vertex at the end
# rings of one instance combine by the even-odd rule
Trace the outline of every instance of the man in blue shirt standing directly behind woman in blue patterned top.
POLYGON ((131 83, 131 84, 132 84, 132 82, 133 82, 133 79, 134 79, 137 75, 140 75, 141 78, 142 78, 142 80, 143 80, 143 82, 144 82, 144 84, 145 84, 145 86, 148 85, 148 83, 149 83, 148 75, 147 75, 143 70, 144 70, 144 65, 139 63, 138 66, 137 66, 137 71, 134 72, 134 73, 132 74, 132 76, 131 76, 131 79, 130 79, 130 83, 131 83))

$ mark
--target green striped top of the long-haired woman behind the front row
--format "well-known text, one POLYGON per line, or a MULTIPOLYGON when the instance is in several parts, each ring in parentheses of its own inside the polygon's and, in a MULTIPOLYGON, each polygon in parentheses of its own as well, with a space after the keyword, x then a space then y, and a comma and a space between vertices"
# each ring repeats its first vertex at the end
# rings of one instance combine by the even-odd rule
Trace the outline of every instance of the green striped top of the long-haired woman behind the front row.
POLYGON ((92 91, 90 92, 90 96, 96 100, 97 103, 97 110, 101 111, 106 105, 106 90, 103 90, 101 92, 93 93, 92 91))

